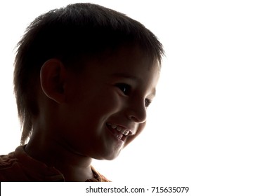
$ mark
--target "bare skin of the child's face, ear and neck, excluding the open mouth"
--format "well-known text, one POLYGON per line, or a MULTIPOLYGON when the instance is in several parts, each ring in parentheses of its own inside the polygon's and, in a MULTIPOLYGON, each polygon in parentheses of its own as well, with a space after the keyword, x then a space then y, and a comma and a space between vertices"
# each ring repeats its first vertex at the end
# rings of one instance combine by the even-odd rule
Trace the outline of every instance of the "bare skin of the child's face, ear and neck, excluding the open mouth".
POLYGON ((89 59, 79 72, 49 59, 41 69, 40 112, 26 152, 59 169, 66 181, 91 179, 92 158, 116 158, 142 132, 159 71, 138 47, 89 59), (107 123, 131 135, 117 139, 107 123))

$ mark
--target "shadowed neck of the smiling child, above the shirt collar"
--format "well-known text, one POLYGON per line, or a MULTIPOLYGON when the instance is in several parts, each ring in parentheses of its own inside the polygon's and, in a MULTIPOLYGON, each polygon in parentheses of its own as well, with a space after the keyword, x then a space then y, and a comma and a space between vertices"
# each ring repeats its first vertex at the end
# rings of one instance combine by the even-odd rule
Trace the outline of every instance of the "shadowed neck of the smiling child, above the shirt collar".
POLYGON ((93 178, 91 158, 72 151, 69 146, 54 139, 39 139, 36 135, 32 135, 25 148, 28 155, 44 162, 48 167, 58 169, 65 176, 65 181, 86 181, 93 178))

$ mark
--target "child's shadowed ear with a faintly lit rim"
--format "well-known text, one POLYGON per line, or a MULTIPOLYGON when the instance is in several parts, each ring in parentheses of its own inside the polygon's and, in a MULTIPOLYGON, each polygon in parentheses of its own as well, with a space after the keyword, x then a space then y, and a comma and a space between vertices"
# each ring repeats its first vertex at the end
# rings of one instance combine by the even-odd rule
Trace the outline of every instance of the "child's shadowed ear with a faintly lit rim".
POLYGON ((44 94, 58 104, 65 101, 65 75, 65 66, 58 59, 48 59, 40 70, 40 82, 44 94))

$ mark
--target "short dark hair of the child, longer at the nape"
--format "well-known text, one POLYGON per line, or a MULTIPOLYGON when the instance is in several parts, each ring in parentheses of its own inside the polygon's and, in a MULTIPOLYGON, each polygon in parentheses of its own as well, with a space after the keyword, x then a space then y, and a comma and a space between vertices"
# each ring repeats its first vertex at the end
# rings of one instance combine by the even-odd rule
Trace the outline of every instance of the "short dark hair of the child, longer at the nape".
POLYGON ((39 113, 36 99, 39 71, 46 60, 64 64, 107 48, 138 44, 152 60, 162 61, 162 44, 140 22, 115 10, 91 3, 74 3, 36 18, 18 43, 14 92, 22 126, 21 144, 32 134, 32 116, 39 113))

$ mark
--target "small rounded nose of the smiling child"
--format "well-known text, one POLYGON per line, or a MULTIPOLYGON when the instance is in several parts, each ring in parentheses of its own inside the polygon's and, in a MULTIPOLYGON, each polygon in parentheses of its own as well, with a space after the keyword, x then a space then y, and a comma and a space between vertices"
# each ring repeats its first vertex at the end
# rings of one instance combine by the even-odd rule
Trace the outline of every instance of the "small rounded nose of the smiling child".
POLYGON ((145 107, 145 102, 131 102, 126 111, 126 116, 129 118, 129 120, 133 120, 135 123, 144 123, 147 119, 147 109, 145 107))

